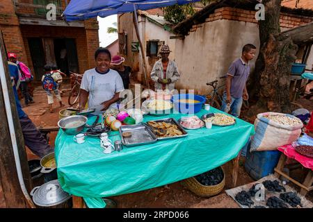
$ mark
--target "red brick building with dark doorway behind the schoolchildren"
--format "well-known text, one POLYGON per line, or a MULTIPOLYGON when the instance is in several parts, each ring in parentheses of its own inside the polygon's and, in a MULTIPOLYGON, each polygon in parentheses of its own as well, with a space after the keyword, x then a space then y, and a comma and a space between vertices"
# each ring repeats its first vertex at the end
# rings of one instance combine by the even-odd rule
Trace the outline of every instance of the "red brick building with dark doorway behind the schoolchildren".
POLYGON ((61 13, 70 0, 1 0, 0 30, 6 50, 31 68, 40 80, 45 64, 56 64, 65 73, 95 66, 99 47, 97 19, 66 23, 61 13), (56 6, 56 20, 48 20, 46 8, 56 6))

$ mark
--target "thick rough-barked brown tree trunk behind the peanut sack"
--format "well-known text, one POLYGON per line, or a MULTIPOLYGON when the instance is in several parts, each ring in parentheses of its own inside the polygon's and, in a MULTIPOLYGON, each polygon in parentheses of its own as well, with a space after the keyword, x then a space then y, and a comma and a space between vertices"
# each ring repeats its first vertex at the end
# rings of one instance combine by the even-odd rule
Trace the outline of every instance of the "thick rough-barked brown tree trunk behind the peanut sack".
POLYGON ((260 52, 250 87, 254 88, 256 105, 248 117, 259 112, 290 112, 289 76, 291 65, 296 60, 296 46, 291 37, 280 35, 281 0, 265 0, 265 20, 259 21, 260 52))

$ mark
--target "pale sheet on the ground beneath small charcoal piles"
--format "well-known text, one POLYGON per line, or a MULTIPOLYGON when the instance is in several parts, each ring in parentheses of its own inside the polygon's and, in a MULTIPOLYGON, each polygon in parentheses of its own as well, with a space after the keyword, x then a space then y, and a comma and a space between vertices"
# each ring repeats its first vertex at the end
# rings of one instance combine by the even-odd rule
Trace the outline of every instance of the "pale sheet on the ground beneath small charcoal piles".
MULTIPOLYGON (((240 186, 240 187, 235 187, 233 189, 227 189, 225 192, 228 196, 231 196, 235 201, 236 203, 242 207, 242 208, 254 208, 255 206, 263 206, 263 207, 266 207, 266 208, 269 208, 268 206, 266 206, 266 201, 268 200, 268 198, 270 198, 271 196, 277 196, 278 198, 280 198, 280 194, 283 194, 283 193, 287 193, 287 192, 296 192, 296 190, 292 189, 291 187, 289 187, 289 185, 282 185, 286 191, 281 191, 281 192, 273 192, 273 191, 268 191, 267 189, 265 189, 265 200, 264 201, 261 201, 261 200, 255 200, 255 197, 251 197, 251 200, 254 202, 253 205, 250 205, 250 207, 246 206, 246 205, 241 205, 236 199, 235 199, 235 196, 236 194, 238 194, 240 191, 249 191, 249 189, 257 184, 257 183, 261 183, 264 182, 265 180, 278 180, 278 182, 280 182, 280 185, 282 185, 282 182, 276 178, 275 176, 273 176, 273 174, 269 175, 269 176, 266 176, 262 179, 259 179, 255 182, 251 182, 249 183, 248 185, 243 185, 243 186, 240 186)), ((301 199, 301 205, 302 207, 301 208, 312 208, 313 207, 313 203, 310 202, 309 200, 307 200, 304 196, 301 196, 300 194, 297 194, 297 196, 301 199)), ((286 203, 286 202, 284 202, 286 203)), ((288 203, 286 203, 288 205, 289 208, 296 208, 296 207, 291 207, 291 205, 289 205, 288 203)))

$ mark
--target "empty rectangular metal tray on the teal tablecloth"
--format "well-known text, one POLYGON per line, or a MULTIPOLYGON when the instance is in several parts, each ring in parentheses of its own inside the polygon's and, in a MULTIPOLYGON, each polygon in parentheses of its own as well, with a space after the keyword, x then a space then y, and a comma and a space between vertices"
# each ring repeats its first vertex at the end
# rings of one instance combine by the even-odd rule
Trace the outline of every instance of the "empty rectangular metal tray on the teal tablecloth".
POLYGON ((138 146, 157 142, 157 136, 152 130, 141 124, 121 126, 119 128, 122 144, 125 146, 138 146), (122 133, 131 132, 131 137, 123 137, 122 133))

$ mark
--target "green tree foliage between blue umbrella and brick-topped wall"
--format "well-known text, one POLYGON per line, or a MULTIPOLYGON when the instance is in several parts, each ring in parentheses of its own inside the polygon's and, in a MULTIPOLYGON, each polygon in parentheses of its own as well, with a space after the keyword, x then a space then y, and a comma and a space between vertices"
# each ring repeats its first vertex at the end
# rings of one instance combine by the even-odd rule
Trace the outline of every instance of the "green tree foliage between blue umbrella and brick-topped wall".
MULTIPOLYGON (((201 0, 200 3, 206 6, 208 3, 215 0, 201 0)), ((195 14, 193 9, 194 3, 188 3, 182 6, 174 5, 163 8, 164 19, 174 24, 184 21, 187 17, 190 17, 195 14)))

